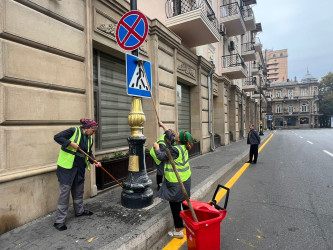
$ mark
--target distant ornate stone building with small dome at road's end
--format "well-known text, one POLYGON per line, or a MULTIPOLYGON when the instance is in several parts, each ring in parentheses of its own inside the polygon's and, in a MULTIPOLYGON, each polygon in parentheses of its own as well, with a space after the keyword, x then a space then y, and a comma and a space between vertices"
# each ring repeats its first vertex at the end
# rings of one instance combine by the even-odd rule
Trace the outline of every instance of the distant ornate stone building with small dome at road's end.
POLYGON ((276 128, 314 128, 319 126, 318 79, 309 72, 300 82, 269 83, 267 114, 276 128))

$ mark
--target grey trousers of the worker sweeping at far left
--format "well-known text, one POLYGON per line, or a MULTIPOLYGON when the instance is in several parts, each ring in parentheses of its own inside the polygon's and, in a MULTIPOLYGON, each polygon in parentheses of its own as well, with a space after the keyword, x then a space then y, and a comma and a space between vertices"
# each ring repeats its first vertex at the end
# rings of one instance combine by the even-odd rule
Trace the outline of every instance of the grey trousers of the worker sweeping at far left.
POLYGON ((59 198, 56 211, 56 223, 65 223, 69 205, 69 195, 72 192, 73 205, 75 215, 82 214, 83 209, 83 192, 84 181, 77 183, 77 176, 74 179, 72 186, 60 184, 59 186, 59 198))

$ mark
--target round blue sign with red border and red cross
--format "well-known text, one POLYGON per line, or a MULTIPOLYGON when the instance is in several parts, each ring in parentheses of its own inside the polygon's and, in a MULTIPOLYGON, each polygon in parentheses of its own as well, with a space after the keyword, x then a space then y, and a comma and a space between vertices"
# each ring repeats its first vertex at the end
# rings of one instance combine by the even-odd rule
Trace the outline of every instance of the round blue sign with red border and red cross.
POLYGON ((124 50, 135 50, 146 40, 148 29, 144 14, 137 10, 129 11, 117 25, 117 43, 124 50))

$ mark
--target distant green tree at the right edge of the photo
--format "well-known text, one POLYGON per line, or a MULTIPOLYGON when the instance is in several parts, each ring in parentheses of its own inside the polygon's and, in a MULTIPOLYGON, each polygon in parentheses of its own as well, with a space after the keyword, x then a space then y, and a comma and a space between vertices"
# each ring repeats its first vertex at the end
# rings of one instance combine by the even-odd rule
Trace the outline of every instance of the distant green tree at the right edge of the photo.
POLYGON ((328 72, 319 83, 321 95, 319 105, 320 112, 324 115, 333 115, 333 73, 328 72))

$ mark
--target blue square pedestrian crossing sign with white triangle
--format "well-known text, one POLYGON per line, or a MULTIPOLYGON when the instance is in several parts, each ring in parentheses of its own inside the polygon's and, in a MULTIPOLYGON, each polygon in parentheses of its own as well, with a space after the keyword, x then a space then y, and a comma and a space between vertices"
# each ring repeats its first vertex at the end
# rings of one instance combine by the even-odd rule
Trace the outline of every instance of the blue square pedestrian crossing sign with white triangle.
POLYGON ((126 54, 127 95, 150 98, 151 64, 143 60, 143 64, 138 63, 138 60, 138 57, 126 54))

